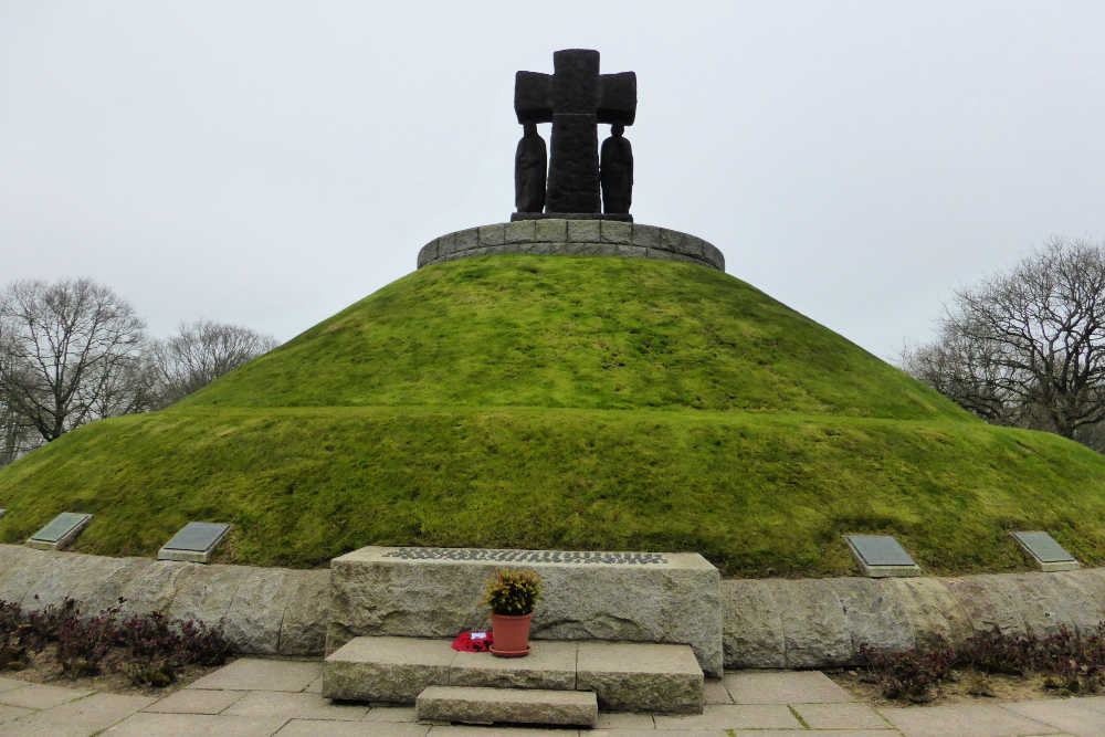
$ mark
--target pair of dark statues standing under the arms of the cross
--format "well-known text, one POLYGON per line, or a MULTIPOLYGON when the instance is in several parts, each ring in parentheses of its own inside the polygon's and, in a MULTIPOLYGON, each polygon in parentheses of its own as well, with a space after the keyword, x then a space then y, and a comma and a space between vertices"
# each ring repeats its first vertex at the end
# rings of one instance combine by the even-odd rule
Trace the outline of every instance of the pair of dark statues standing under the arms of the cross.
MULTIPOLYGON (((547 151, 545 140, 537 135, 536 123, 523 124, 524 135, 514 155, 514 203, 518 212, 545 210, 545 177, 547 151)), ((599 154, 599 183, 602 187, 602 212, 629 214, 633 199, 633 147, 619 123, 610 126, 610 137, 602 141, 599 154)))

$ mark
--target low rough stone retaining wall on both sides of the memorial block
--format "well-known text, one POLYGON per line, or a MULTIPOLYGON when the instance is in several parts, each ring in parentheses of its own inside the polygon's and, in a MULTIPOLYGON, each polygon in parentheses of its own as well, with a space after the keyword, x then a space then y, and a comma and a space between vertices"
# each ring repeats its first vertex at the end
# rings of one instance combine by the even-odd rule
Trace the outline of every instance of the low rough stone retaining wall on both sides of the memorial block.
MULTIPOLYGON (((245 653, 320 655, 329 570, 201 566, 0 545, 0 599, 41 609, 65 597, 222 622, 245 653), (38 599, 35 599, 38 594, 38 599)), ((1105 569, 898 579, 722 581, 725 667, 830 667, 863 644, 903 650, 998 627, 1086 633, 1105 619, 1105 569)))

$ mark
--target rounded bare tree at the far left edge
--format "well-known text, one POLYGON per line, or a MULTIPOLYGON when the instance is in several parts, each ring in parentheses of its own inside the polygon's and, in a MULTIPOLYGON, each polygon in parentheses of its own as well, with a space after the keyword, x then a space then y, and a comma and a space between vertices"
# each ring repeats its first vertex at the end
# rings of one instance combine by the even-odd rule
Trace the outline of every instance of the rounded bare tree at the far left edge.
POLYGON ((50 442, 145 409, 125 381, 141 364, 144 328, 129 304, 86 278, 9 285, 0 293, 0 398, 12 427, 50 442))

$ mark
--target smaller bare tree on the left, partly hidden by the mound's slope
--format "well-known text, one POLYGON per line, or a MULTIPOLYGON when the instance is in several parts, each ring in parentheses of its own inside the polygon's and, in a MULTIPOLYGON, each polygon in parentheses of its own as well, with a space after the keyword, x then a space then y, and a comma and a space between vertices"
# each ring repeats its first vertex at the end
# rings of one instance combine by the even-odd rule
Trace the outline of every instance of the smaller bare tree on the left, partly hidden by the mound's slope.
POLYGON ((280 345, 246 327, 197 320, 152 348, 158 406, 171 404, 280 345))

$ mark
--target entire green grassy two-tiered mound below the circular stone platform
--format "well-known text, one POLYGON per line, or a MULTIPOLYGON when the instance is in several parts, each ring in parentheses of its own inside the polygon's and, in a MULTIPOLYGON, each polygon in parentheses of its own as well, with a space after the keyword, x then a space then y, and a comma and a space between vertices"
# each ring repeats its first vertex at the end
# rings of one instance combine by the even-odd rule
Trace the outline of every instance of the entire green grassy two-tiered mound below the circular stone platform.
POLYGON ((894 534, 929 571, 1025 568, 1010 529, 1105 561, 1105 457, 993 428, 754 287, 609 257, 415 272, 162 412, 0 470, 0 540, 93 512, 76 549, 222 559, 370 544, 697 550, 734 575, 854 571, 894 534))

